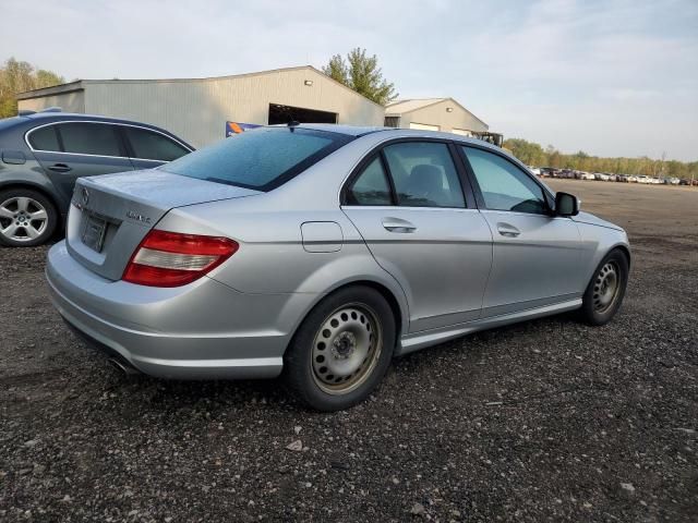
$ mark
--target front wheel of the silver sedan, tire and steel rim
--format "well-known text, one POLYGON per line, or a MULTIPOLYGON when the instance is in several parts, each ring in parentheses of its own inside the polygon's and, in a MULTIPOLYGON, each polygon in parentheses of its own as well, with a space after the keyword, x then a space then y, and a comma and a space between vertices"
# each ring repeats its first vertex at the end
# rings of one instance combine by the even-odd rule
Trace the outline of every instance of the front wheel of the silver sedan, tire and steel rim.
POLYGON ((628 271, 628 258, 623 251, 614 248, 606 254, 594 270, 585 291, 580 309, 583 321, 600 326, 613 319, 625 297, 628 271), (614 272, 616 288, 611 295, 606 292, 609 290, 607 280, 614 272), (606 287, 604 287, 604 281, 606 287))

